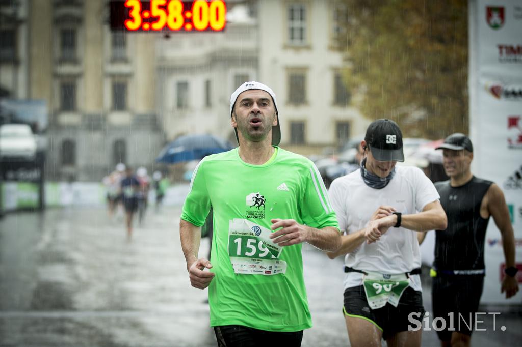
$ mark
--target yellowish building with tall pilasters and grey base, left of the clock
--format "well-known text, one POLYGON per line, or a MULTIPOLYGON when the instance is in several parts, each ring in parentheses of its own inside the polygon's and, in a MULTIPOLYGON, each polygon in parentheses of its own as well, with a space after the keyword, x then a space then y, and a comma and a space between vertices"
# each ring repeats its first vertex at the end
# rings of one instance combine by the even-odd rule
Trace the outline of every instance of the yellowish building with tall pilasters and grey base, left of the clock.
POLYGON ((98 180, 120 162, 152 168, 165 140, 150 35, 111 31, 106 0, 15 1, 2 13, 13 7, 23 19, 16 76, 27 83, 0 82, 5 97, 48 105, 46 177, 98 180))

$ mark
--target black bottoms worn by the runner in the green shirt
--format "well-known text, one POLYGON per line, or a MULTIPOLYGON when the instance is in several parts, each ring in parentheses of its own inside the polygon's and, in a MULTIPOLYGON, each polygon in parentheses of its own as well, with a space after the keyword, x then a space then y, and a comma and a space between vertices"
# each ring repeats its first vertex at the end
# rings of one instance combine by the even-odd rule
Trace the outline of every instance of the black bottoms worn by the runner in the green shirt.
POLYGON ((242 325, 223 325, 214 327, 218 347, 300 347, 303 340, 301 331, 266 331, 242 325))

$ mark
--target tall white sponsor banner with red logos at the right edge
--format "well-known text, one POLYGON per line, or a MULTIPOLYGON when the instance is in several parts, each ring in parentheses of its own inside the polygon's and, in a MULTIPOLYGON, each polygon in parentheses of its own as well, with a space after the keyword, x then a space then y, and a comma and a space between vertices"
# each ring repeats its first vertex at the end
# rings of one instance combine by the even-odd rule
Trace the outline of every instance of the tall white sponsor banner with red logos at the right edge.
MULTIPOLYGON (((503 190, 515 231, 516 263, 522 270, 522 2, 469 1, 469 122, 472 172, 503 190)), ((486 277, 481 303, 506 300, 502 238, 490 220, 484 246, 486 277)), ((522 271, 518 272, 522 281, 522 271)))

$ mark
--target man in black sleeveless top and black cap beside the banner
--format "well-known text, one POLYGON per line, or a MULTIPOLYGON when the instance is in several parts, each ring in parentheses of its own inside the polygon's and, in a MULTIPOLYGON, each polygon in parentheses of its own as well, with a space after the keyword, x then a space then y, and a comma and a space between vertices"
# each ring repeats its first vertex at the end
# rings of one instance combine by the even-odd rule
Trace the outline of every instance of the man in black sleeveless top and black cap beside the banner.
POLYGON ((506 292, 506 298, 518 291, 513 227, 502 190, 471 173, 473 146, 469 138, 456 133, 447 137, 439 148, 444 150, 443 164, 449 181, 437 182, 435 187, 448 226, 435 233, 432 319, 441 318, 446 323, 446 329, 437 331, 443 347, 469 346, 484 285, 484 241, 490 216, 502 234, 504 245, 507 270, 501 291, 506 292), (455 322, 460 322, 461 315, 468 325, 455 323, 456 331, 449 331, 448 315, 452 313, 455 322))

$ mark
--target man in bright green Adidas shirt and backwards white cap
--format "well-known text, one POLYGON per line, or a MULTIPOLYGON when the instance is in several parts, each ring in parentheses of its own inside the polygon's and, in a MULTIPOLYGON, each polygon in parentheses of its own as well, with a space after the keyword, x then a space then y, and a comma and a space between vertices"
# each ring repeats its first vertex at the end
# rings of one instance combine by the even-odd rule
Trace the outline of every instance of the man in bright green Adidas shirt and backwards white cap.
POLYGON ((239 147, 201 160, 180 222, 191 284, 209 287, 218 345, 301 345, 312 326, 301 247, 337 250, 340 233, 315 165, 279 148, 274 92, 258 82, 231 96, 239 147), (210 261, 199 228, 213 208, 210 261))

